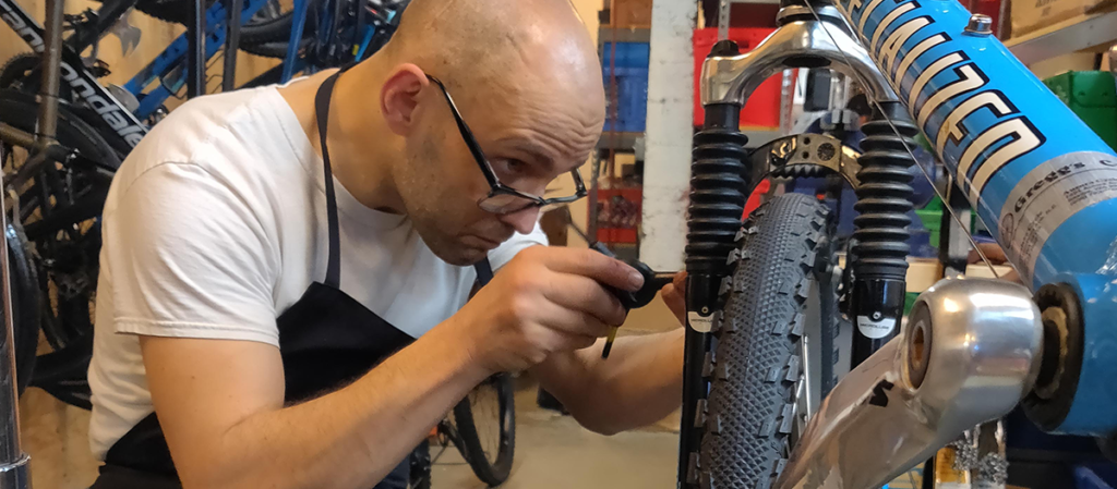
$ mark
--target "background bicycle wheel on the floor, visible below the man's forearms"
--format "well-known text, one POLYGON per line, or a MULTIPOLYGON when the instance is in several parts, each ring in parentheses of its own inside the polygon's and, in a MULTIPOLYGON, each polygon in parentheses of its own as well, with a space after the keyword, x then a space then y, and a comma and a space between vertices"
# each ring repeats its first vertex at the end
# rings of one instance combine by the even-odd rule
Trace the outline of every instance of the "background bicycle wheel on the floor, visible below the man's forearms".
POLYGON ((512 472, 516 449, 513 394, 512 377, 497 374, 454 406, 459 438, 455 444, 477 478, 489 486, 503 483, 512 472))

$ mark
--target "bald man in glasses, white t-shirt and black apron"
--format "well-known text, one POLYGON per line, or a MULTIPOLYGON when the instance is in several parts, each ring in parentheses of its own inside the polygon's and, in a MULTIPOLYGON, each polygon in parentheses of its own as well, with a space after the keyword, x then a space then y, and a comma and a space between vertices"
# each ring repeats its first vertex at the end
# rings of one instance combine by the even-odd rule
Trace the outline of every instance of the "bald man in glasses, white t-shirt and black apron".
POLYGON ((668 414, 681 329, 600 358, 624 319, 603 286, 639 274, 535 246, 604 105, 566 0, 414 0, 351 69, 174 111, 104 210, 94 487, 404 487, 401 461, 499 372, 598 432, 668 414))

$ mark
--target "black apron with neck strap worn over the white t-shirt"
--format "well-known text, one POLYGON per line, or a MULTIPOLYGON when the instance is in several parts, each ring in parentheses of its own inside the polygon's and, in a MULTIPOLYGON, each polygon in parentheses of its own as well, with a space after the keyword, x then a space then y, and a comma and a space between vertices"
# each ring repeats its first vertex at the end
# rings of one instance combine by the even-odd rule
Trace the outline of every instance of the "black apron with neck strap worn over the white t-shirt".
MULTIPOLYGON (((279 315, 279 354, 286 381, 286 404, 343 387, 414 339, 365 308, 340 288, 341 240, 334 180, 326 148, 330 99, 338 71, 326 78, 314 98, 322 142, 330 255, 323 282, 311 284, 303 297, 279 315)), ((485 285, 493 278, 488 259, 474 266, 485 285)), ((404 459, 374 489, 405 489, 410 463, 404 459)), ((108 450, 101 476, 90 489, 181 489, 171 452, 151 413, 108 450)))

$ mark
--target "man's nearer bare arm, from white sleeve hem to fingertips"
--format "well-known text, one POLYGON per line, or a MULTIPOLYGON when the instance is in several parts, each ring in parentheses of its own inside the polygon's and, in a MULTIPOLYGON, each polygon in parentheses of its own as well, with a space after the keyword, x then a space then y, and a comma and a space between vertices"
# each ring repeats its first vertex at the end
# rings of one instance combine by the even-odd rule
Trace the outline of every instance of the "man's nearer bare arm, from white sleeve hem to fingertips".
POLYGON ((287 408, 274 346, 141 337, 183 487, 371 487, 489 374, 585 348, 622 323, 601 282, 640 286, 636 270, 595 251, 524 250, 411 346, 344 389, 287 408))

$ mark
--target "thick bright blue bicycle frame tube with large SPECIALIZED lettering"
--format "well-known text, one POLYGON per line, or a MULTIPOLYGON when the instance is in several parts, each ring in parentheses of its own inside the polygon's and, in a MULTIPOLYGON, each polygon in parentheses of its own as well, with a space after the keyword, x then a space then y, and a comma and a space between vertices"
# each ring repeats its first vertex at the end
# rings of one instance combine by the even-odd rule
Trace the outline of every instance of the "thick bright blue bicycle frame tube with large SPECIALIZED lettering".
POLYGON ((1083 359, 1053 431, 1117 431, 1117 155, 954 0, 837 0, 1025 282, 1067 284, 1083 359))

